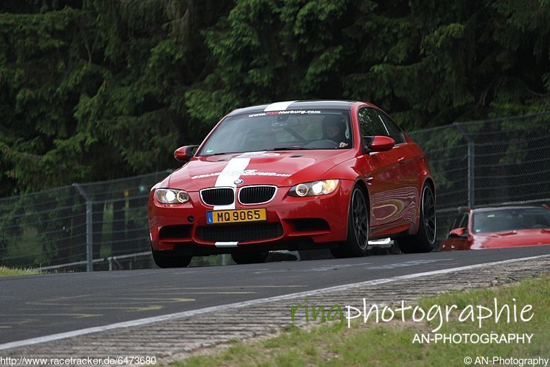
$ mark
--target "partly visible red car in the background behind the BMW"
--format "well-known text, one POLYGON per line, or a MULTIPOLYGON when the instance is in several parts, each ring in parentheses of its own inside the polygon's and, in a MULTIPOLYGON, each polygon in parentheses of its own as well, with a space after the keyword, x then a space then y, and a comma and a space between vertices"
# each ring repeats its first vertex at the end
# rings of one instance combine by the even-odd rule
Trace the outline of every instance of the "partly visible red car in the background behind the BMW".
POLYGON ((550 209, 537 206, 463 209, 441 251, 550 245, 550 209))

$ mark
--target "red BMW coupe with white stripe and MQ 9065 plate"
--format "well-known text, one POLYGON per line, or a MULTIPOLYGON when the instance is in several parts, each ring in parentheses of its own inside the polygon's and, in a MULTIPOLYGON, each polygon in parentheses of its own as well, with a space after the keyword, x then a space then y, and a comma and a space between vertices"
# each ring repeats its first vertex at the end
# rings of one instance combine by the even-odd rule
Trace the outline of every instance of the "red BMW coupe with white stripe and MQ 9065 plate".
POLYGON ((365 102, 292 101, 237 109, 151 189, 153 258, 260 263, 276 249, 364 256, 369 239, 434 247, 435 190, 421 148, 365 102))

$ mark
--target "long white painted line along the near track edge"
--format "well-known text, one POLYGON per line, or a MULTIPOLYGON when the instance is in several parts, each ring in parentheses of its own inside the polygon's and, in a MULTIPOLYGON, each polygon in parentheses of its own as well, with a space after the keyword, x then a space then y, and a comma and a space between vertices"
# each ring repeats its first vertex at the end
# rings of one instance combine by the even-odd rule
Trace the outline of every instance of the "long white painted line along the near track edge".
POLYGON ((367 280, 365 282, 351 283, 351 284, 348 284, 348 285, 337 285, 335 287, 315 289, 313 291, 303 291, 303 292, 299 292, 299 293, 285 294, 283 296, 261 298, 259 300, 236 302, 236 303, 232 303, 232 304, 224 304, 224 305, 221 305, 221 306, 206 307, 204 309, 184 311, 184 312, 178 312, 178 313, 170 313, 169 315, 154 316, 152 318, 142 318, 142 319, 126 321, 126 322, 117 322, 115 324, 108 324, 108 325, 104 325, 104 326, 96 326, 96 327, 91 327, 91 328, 87 328, 87 329, 68 331, 66 333, 57 333, 57 334, 52 334, 52 335, 45 335, 43 337, 33 337, 32 339, 19 340, 17 342, 9 342, 9 343, 5 343, 5 344, 0 344, 0 351, 5 350, 5 349, 10 349, 10 348, 18 348, 20 346, 29 346, 29 345, 40 344, 40 343, 45 343, 45 342, 53 342, 54 340, 67 339, 69 337, 78 337, 78 336, 81 336, 81 335, 87 335, 87 334, 91 334, 91 333, 99 333, 101 331, 109 331, 109 330, 113 330, 113 329, 122 329, 122 328, 128 328, 128 327, 132 327, 132 326, 141 326, 141 325, 145 325, 145 324, 152 324, 153 322, 162 322, 162 321, 167 321, 167 320, 175 320, 175 319, 179 319, 179 318, 189 318, 189 317, 192 317, 192 316, 195 316, 195 315, 201 315, 203 313, 216 312, 216 311, 225 311, 227 309, 236 309, 236 308, 239 308, 239 307, 252 306, 252 305, 255 305, 255 304, 262 304, 262 303, 266 303, 266 302, 276 302, 276 301, 281 301, 281 300, 287 300, 289 298, 303 298, 303 297, 308 297, 308 296, 314 296, 316 294, 327 293, 329 291, 340 291, 340 290, 353 288, 353 287, 379 285, 379 284, 384 284, 384 283, 388 283, 388 282, 395 282, 397 280, 420 278, 422 276, 432 276, 432 275, 437 275, 437 274, 447 274, 447 273, 452 273, 454 271, 477 269, 479 267, 488 267, 488 266, 492 266, 492 265, 500 265, 500 264, 506 264, 506 263, 516 263, 517 261, 535 260, 537 258, 544 258, 544 257, 549 257, 549 256, 550 255, 539 255, 539 256, 531 256, 531 257, 527 257, 527 258, 513 258, 513 259, 509 259, 509 260, 495 261, 494 263, 483 263, 483 264, 476 264, 476 265, 467 265, 467 266, 464 266, 464 267, 452 267, 450 269, 425 271, 423 273, 417 273, 417 274, 407 274, 407 275, 404 275, 404 276, 394 276, 392 278, 367 280))

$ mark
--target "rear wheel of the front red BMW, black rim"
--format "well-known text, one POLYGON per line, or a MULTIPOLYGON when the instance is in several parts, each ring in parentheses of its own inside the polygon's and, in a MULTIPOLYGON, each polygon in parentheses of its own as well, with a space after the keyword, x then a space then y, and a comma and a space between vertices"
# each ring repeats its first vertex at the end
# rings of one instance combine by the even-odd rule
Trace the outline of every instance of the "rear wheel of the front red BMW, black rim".
POLYGON ((432 187, 428 183, 424 183, 418 232, 411 236, 397 238, 399 249, 404 254, 431 252, 435 247, 436 229, 435 195, 432 187))

